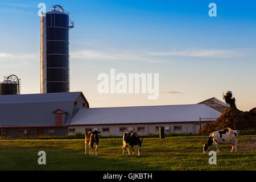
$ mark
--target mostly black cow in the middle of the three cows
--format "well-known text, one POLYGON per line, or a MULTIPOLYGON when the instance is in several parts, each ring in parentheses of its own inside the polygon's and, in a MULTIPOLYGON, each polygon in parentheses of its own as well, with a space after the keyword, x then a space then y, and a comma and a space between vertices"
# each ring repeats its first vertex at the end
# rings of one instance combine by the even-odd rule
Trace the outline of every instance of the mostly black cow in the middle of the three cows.
POLYGON ((123 155, 125 154, 125 148, 127 148, 128 154, 130 155, 130 147, 134 154, 134 146, 138 147, 138 155, 141 155, 142 138, 138 137, 137 133, 133 131, 123 133, 123 155))

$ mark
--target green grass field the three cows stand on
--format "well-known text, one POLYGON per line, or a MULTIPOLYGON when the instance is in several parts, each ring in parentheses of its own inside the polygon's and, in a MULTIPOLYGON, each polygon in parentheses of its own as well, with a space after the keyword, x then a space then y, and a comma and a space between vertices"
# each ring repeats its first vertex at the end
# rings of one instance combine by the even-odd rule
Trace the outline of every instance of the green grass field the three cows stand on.
POLYGON ((221 145, 216 165, 203 154, 207 138, 144 138, 141 156, 122 155, 122 138, 100 139, 98 156, 84 155, 82 139, 0 140, 0 170, 256 170, 256 135, 239 137, 237 153, 221 145))

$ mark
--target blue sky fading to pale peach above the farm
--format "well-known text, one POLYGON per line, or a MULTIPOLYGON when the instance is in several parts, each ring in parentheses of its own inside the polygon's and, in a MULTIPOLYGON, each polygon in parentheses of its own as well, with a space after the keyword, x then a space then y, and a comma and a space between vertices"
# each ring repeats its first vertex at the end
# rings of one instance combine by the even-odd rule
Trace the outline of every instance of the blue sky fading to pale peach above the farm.
POLYGON ((71 91, 91 107, 195 104, 232 90, 238 109, 256 106, 255 1, 1 1, 0 80, 40 92, 38 4, 71 13, 71 91), (217 5, 217 17, 208 5, 217 5), (97 75, 159 73, 159 99, 98 94, 97 75))

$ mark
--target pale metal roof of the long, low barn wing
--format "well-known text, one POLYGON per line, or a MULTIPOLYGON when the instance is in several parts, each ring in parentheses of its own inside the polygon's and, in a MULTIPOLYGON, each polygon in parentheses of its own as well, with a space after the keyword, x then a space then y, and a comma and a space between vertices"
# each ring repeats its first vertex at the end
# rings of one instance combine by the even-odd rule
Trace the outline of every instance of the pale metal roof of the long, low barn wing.
POLYGON ((204 104, 82 108, 70 125, 117 125, 126 123, 164 123, 214 121, 221 112, 204 104))

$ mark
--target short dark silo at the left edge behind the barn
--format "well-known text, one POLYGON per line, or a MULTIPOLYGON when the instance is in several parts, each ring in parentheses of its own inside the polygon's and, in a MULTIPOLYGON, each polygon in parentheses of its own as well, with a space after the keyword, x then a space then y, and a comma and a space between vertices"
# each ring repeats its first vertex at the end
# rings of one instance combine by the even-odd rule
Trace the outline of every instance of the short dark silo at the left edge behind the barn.
POLYGON ((18 82, 5 80, 0 82, 0 95, 18 94, 18 82))

